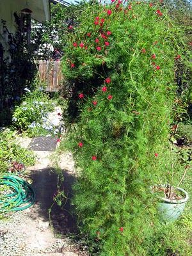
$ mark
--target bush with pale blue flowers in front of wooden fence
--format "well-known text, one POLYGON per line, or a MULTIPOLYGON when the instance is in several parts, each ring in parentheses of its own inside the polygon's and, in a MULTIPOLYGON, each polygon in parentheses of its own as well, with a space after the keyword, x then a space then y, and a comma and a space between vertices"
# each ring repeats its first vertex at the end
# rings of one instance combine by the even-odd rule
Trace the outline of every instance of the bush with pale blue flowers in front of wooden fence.
POLYGON ((16 106, 13 113, 13 125, 20 131, 25 131, 28 136, 59 133, 58 128, 48 118, 55 106, 56 102, 49 99, 43 88, 36 88, 33 92, 26 88, 22 103, 16 106))

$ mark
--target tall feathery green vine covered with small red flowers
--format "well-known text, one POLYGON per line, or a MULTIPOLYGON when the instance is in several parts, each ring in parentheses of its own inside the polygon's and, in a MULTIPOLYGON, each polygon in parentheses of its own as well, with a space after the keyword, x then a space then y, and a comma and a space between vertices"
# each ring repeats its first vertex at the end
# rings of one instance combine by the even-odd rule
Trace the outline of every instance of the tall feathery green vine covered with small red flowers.
POLYGON ((150 186, 177 170, 168 136, 188 45, 161 3, 92 3, 80 21, 63 58, 79 223, 99 255, 156 255, 150 186))

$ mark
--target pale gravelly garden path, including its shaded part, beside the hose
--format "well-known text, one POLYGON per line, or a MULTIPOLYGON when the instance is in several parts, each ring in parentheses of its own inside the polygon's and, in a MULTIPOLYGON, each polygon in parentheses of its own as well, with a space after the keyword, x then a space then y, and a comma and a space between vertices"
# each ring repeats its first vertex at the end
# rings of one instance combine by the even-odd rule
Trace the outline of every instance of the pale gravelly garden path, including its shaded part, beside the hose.
MULTIPOLYGON (((28 147, 29 139, 20 140, 23 147, 28 147)), ((6 222, 0 221, 0 256, 88 256, 86 248, 82 249, 81 244, 69 237, 77 231, 70 205, 71 185, 76 179, 72 156, 63 154, 61 157, 61 175, 64 177, 61 191, 65 191, 68 199, 59 207, 53 200, 58 175, 50 160, 52 152, 35 153, 38 160, 29 172, 36 204, 25 211, 14 212, 6 222)))

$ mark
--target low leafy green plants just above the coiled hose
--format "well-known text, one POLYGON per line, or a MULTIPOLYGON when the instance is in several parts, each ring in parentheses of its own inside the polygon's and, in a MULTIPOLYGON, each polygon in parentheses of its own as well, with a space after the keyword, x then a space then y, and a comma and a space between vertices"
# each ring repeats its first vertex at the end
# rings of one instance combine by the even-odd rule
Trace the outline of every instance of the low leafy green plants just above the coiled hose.
POLYGON ((35 156, 33 152, 15 142, 14 132, 9 129, 0 131, 0 173, 8 172, 14 161, 31 166, 35 164, 35 156))

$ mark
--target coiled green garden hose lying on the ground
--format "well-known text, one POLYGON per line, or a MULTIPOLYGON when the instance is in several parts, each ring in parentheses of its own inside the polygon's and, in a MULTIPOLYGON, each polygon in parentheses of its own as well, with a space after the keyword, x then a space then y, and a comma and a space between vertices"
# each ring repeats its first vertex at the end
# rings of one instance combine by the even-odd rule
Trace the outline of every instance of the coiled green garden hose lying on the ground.
POLYGON ((0 178, 0 186, 10 187, 10 193, 6 191, 0 197, 0 212, 21 211, 29 208, 35 202, 35 191, 26 180, 15 175, 3 175, 0 178))

